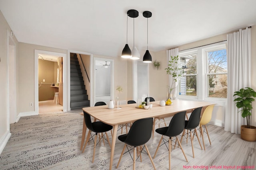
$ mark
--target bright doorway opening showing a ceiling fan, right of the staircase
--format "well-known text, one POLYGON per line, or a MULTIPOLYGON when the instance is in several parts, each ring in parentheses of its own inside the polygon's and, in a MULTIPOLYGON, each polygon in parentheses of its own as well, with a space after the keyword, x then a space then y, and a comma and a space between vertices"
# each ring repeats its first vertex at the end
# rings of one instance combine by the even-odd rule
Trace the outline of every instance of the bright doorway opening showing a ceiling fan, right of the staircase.
POLYGON ((94 104, 114 100, 114 60, 94 58, 94 104))

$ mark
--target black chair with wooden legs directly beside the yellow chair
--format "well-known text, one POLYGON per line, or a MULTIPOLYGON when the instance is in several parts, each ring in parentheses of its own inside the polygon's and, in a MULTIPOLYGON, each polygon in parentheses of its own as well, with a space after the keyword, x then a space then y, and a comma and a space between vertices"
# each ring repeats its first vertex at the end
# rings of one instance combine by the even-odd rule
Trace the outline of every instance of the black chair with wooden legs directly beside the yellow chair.
POLYGON ((202 107, 198 107, 198 108, 196 108, 192 111, 189 119, 185 121, 185 127, 184 127, 184 130, 183 130, 181 139, 180 139, 180 143, 182 143, 182 138, 186 137, 187 143, 188 143, 188 136, 190 137, 192 152, 193 152, 193 158, 195 156, 194 156, 194 146, 193 146, 193 137, 194 137, 194 135, 192 137, 192 130, 194 130, 194 134, 196 133, 196 137, 198 139, 199 145, 200 145, 201 149, 203 150, 202 145, 201 145, 200 140, 199 140, 199 137, 198 137, 198 133, 196 131, 196 127, 198 127, 198 125, 200 123, 201 111, 202 111, 202 107), (186 132, 186 130, 187 130, 187 132, 186 132), (188 130, 190 132, 188 132, 188 130))

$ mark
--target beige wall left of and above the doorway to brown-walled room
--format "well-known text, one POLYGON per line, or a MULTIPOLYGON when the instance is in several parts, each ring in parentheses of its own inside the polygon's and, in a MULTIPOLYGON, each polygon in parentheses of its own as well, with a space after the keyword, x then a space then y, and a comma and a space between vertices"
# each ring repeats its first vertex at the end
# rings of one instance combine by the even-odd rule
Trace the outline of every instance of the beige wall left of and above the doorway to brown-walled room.
POLYGON ((34 111, 34 107, 30 107, 30 103, 34 103, 34 50, 52 51, 56 53, 67 53, 67 50, 44 47, 40 45, 32 45, 27 43, 19 43, 19 98, 20 105, 18 112, 34 111))

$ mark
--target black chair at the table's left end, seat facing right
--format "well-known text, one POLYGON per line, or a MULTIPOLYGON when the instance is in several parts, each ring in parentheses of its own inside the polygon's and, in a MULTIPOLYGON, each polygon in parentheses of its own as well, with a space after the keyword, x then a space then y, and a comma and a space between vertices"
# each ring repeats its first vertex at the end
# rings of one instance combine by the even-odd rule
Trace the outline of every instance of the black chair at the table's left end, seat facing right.
MULTIPOLYGON (((86 127, 89 129, 89 132, 88 132, 88 135, 87 135, 87 138, 86 138, 86 142, 85 142, 85 145, 84 145, 84 149, 83 149, 83 152, 84 153, 84 150, 85 150, 85 147, 88 143, 88 141, 93 141, 93 136, 95 135, 95 139, 94 139, 94 150, 93 150, 93 156, 92 156, 92 162, 94 162, 94 156, 95 156, 95 149, 96 149, 96 145, 98 144, 97 143, 97 136, 98 136, 98 133, 103 133, 105 132, 106 134, 106 138, 104 137, 104 135, 102 134, 101 136, 99 135, 99 138, 103 138, 105 139, 106 141, 108 141, 108 144, 111 148, 111 145, 110 145, 110 142, 109 142, 109 139, 108 139, 108 134, 106 133, 107 131, 110 131, 113 127, 111 125, 108 125, 106 123, 103 123, 101 121, 95 121, 95 122, 92 122, 91 120, 91 116, 86 113, 84 111, 84 120, 85 120, 85 124, 86 124, 86 127), (91 134, 91 132, 95 132, 94 135, 91 134), (90 137, 91 136, 91 137, 90 137)), ((100 141, 100 140, 99 140, 100 141)), ((103 140, 103 143, 104 143, 104 140, 103 140)), ((104 143, 105 144, 105 143, 104 143)))

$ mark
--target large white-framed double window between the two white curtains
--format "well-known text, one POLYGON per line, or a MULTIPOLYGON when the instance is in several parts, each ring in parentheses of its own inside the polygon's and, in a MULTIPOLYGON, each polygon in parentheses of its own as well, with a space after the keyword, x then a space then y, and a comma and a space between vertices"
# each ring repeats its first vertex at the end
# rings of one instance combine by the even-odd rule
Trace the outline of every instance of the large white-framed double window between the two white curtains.
POLYGON ((226 42, 180 51, 180 67, 186 66, 178 86, 178 98, 224 101, 227 98, 226 42))

